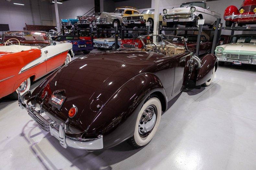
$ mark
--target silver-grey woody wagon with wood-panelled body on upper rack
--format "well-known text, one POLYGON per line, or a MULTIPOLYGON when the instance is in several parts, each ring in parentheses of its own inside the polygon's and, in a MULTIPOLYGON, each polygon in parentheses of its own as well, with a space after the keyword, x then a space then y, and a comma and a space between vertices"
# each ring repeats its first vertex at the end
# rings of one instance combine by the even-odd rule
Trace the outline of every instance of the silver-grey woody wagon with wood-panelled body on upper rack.
POLYGON ((96 17, 96 24, 99 27, 114 27, 114 23, 116 23, 117 26, 120 27, 120 24, 122 23, 122 16, 131 14, 139 14, 138 9, 130 6, 122 6, 116 8, 113 13, 102 12, 99 16, 96 17))

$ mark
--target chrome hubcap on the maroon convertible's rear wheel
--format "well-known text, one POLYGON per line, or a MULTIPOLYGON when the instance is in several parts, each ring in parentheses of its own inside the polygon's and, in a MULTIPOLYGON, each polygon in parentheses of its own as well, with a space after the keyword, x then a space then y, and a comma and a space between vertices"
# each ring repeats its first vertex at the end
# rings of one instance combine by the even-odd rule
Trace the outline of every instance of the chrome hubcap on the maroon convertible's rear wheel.
POLYGON ((146 133, 150 133, 150 131, 154 128, 157 121, 156 112, 157 111, 153 105, 148 106, 144 110, 138 125, 138 130, 141 135, 146 135, 146 133))

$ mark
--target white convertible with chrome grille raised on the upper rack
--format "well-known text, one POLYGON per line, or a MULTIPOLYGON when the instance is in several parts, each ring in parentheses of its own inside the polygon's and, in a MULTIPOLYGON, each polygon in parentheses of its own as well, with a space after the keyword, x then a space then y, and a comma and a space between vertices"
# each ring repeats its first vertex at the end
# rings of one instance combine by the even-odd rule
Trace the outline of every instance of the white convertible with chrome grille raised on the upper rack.
POLYGON ((163 21, 168 27, 175 24, 197 26, 199 19, 204 19, 204 24, 213 27, 220 14, 206 8, 205 2, 187 2, 180 5, 180 8, 163 9, 163 21))

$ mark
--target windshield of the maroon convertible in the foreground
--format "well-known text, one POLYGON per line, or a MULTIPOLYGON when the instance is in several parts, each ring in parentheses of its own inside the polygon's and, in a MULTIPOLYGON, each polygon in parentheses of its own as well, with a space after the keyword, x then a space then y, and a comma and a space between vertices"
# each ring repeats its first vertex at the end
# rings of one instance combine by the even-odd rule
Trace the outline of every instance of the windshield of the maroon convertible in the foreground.
POLYGON ((175 47, 183 47, 187 49, 183 37, 174 35, 143 35, 140 36, 143 45, 154 43, 155 45, 171 45, 175 47))

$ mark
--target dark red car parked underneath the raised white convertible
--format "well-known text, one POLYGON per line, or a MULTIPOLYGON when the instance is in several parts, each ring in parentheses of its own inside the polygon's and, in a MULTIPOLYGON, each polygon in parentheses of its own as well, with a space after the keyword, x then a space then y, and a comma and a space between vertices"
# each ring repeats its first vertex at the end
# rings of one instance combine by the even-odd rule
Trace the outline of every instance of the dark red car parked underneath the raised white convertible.
MULTIPOLYGON (((178 35, 184 37, 188 49, 191 52, 196 52, 196 41, 197 41, 197 35, 192 34, 186 34, 186 35, 178 35)), ((205 35, 201 35, 201 41, 200 41, 200 47, 199 47, 199 56, 210 54, 212 50, 213 43, 210 42, 205 35)))

